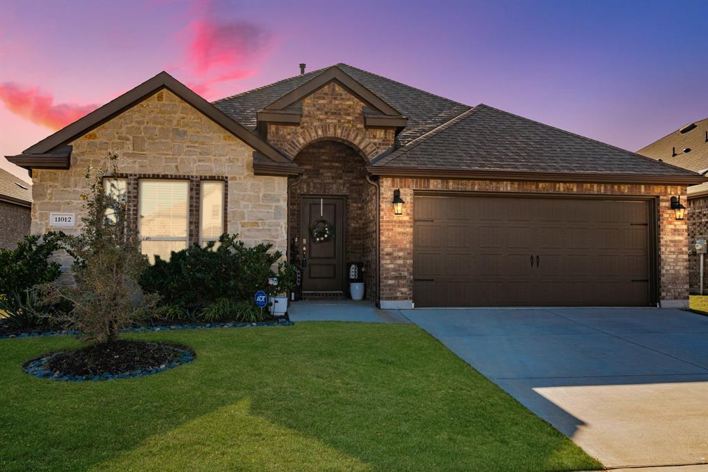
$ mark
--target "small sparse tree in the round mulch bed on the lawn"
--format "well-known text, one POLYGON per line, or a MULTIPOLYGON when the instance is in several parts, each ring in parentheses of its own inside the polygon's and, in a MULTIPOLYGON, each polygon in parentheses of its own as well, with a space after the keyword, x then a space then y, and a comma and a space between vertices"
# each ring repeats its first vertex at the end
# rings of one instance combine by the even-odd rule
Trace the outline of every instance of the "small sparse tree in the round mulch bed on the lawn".
POLYGON ((48 300, 69 300, 74 308, 59 317, 67 327, 79 330, 86 342, 116 342, 120 330, 144 319, 144 313, 154 307, 157 297, 143 295, 137 279, 147 267, 147 258, 140 253, 137 232, 127 223, 125 201, 108 195, 103 178, 115 174, 115 159, 108 154, 110 167, 94 172, 89 167, 86 181, 89 192, 84 226, 79 235, 65 235, 62 243, 74 257, 75 286, 45 284, 39 291, 48 300), (109 172, 110 169, 110 172, 109 172))

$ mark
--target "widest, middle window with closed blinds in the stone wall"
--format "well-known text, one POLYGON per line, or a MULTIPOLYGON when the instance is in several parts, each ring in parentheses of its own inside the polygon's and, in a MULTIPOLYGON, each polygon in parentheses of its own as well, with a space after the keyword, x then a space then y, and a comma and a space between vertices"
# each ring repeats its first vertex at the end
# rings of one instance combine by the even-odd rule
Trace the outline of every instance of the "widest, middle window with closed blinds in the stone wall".
POLYGON ((155 262, 155 255, 169 260, 172 251, 187 247, 188 181, 140 180, 138 201, 142 253, 151 264, 155 262))

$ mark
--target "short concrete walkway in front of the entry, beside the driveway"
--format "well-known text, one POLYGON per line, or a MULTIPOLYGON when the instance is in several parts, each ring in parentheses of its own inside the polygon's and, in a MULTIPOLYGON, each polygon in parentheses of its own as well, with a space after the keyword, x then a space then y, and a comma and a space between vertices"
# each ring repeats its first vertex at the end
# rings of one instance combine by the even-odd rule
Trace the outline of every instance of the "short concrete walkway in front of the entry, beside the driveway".
POLYGON ((379 310, 367 301, 297 301, 287 308, 292 321, 360 321, 370 323, 409 323, 396 310, 379 310))

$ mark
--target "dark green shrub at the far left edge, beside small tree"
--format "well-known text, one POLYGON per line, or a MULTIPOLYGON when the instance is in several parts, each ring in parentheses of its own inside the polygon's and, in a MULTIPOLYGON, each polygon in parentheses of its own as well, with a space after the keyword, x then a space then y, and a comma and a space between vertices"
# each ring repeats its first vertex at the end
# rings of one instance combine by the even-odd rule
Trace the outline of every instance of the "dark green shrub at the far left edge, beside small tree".
POLYGON ((0 310, 8 321, 18 327, 38 325, 38 314, 54 309, 45 306, 33 295, 32 288, 59 278, 60 266, 49 262, 53 252, 60 249, 60 232, 26 236, 15 249, 0 249, 0 310))

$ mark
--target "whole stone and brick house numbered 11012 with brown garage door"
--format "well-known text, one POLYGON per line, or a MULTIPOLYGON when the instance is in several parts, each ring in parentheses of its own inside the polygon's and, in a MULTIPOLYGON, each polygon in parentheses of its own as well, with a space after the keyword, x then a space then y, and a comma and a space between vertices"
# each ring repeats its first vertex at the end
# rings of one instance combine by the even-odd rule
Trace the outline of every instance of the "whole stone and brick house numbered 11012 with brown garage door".
POLYGON ((362 262, 384 308, 687 305, 670 201, 704 177, 347 64, 214 103, 158 74, 8 157, 34 232, 78 220, 109 151, 149 254, 237 232, 297 261, 306 295, 341 296, 362 262))

